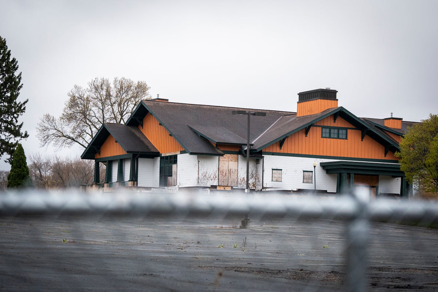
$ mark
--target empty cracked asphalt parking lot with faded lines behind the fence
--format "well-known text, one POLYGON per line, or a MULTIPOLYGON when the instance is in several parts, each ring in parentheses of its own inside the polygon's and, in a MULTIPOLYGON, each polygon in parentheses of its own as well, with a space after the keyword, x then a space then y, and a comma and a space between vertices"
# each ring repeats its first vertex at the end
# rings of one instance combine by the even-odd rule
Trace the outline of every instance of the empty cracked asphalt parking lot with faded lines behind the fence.
MULTIPOLYGON (((1 291, 339 291, 345 223, 0 217, 1 291)), ((437 229, 375 223, 371 291, 438 291, 437 229)))

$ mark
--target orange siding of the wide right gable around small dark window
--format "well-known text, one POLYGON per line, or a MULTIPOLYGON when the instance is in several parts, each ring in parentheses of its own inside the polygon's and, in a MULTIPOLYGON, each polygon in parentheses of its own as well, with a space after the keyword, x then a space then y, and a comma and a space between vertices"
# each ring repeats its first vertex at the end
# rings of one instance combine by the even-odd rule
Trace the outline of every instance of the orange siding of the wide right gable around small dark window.
MULTIPOLYGON (((333 121, 333 117, 332 121, 333 121)), ((338 124, 339 118, 336 120, 338 124)), ((339 120, 340 121, 340 120, 339 120)), ((365 135, 361 141, 360 130, 347 130, 347 139, 321 138, 321 127, 311 127, 307 137, 305 129, 286 138, 282 149, 280 142, 263 149, 264 152, 295 153, 307 155, 323 155, 336 157, 371 158, 398 160, 394 153, 388 152, 385 157, 385 147, 370 136, 365 135)))

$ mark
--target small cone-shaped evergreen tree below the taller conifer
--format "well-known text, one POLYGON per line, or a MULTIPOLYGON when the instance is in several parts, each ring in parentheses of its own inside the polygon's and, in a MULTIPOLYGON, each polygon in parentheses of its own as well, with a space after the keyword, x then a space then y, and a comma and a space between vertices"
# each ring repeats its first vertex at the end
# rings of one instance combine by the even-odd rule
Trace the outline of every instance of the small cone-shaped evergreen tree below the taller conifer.
POLYGON ((29 167, 26 163, 26 155, 23 146, 17 145, 12 155, 11 172, 7 176, 8 188, 27 188, 32 186, 32 180, 29 176, 29 167))

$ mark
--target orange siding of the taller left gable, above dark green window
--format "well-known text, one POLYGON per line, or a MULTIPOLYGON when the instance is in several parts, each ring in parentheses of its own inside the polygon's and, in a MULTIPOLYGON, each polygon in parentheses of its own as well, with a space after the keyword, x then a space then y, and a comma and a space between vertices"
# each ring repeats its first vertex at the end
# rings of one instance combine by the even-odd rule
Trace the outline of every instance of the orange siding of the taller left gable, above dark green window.
POLYGON ((143 119, 143 127, 138 125, 140 131, 152 142, 152 144, 159 150, 160 153, 170 153, 183 151, 180 143, 172 136, 169 136, 169 132, 159 125, 159 122, 152 114, 146 114, 143 119))

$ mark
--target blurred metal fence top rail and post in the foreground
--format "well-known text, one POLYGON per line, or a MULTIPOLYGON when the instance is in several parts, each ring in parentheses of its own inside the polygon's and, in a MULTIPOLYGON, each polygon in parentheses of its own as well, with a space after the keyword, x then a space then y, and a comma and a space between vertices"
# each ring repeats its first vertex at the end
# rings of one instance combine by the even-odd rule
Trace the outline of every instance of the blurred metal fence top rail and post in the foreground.
MULTIPOLYGON (((220 217, 264 221, 287 218, 293 221, 337 219, 345 222, 345 291, 367 291, 372 221, 438 224, 438 205, 415 200, 377 199, 360 196, 291 196, 266 192, 241 195, 234 192, 145 193, 145 192, 50 192, 0 193, 1 217, 23 215, 147 217, 220 217), (225 194, 225 195, 223 195, 225 194)), ((236 224, 237 225, 237 224, 236 224)), ((251 226, 251 225, 250 225, 251 226)), ((234 226, 236 227, 236 226, 234 226)), ((246 241, 246 238, 245 238, 246 241)))

